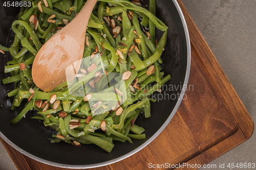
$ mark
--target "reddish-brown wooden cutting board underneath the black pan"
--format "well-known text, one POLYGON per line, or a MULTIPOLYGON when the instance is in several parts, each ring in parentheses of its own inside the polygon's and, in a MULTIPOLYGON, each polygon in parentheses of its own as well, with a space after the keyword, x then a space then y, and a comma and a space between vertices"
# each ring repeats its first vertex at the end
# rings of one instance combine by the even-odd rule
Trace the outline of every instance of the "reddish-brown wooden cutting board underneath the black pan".
MULTIPOLYGON (((147 169, 150 163, 168 163, 170 167, 185 162, 203 165, 245 142, 253 133, 254 124, 245 106, 184 5, 180 0, 178 3, 186 19, 191 42, 186 100, 163 132, 147 147, 129 158, 95 170, 147 169)), ((1 141, 20 170, 65 169, 37 162, 11 148, 3 139, 1 141)))

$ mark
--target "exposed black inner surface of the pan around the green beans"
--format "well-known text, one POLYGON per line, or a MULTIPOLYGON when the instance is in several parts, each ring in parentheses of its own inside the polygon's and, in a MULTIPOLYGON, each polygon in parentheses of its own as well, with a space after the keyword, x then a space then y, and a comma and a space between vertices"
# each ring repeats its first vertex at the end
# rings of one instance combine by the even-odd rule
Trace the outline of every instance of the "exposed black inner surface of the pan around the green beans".
MULTIPOLYGON (((5 14, 3 9, 1 9, 1 14, 3 14, 0 16, 2 18, 1 31, 3 34, 0 35, 0 43, 5 44, 7 40, 7 45, 10 45, 9 41, 12 40, 13 37, 11 35, 13 34, 10 34, 9 37, 8 34, 14 16, 4 17, 5 14)), ((136 120, 136 124, 145 129, 145 139, 133 139, 133 144, 129 142, 114 142, 115 147, 111 153, 106 153, 96 145, 82 145, 82 147, 76 148, 65 142, 50 143, 48 138, 51 137, 52 130, 46 129, 38 120, 30 119, 30 117, 33 116, 33 113, 27 113, 26 117, 20 120, 15 126, 10 125, 9 121, 18 114, 21 108, 16 111, 9 110, 13 99, 7 98, 7 91, 11 90, 12 87, 1 83, 0 131, 2 132, 2 135, 10 140, 8 141, 9 143, 13 143, 21 150, 24 150, 26 152, 24 154, 29 153, 33 155, 33 158, 36 160, 46 160, 64 165, 83 165, 84 167, 87 167, 87 165, 100 164, 111 160, 118 161, 118 158, 126 154, 129 155, 131 152, 136 153, 137 151, 134 151, 138 149, 138 147, 142 149, 145 146, 145 143, 148 144, 148 139, 155 135, 157 131, 166 124, 166 119, 170 116, 178 102, 183 84, 187 83, 184 82, 187 72, 187 61, 189 60, 187 54, 187 41, 182 20, 174 2, 169 0, 158 0, 157 17, 159 17, 169 28, 168 39, 162 58, 164 63, 163 71, 165 75, 170 74, 172 79, 170 79, 163 87, 163 92, 161 94, 155 93, 153 95, 153 98, 159 101, 152 104, 152 116, 150 118, 139 117, 139 119, 136 120), (141 148, 143 144, 144 146, 141 148)), ((158 34, 160 36, 160 32, 158 32, 158 34)), ((2 80, 3 78, 6 78, 6 74, 4 74, 4 65, 8 58, 1 55, 0 60, 0 76, 2 80)), ((4 139, 7 140, 6 138, 4 139)), ((124 158, 125 157, 122 157, 122 159, 124 158)))

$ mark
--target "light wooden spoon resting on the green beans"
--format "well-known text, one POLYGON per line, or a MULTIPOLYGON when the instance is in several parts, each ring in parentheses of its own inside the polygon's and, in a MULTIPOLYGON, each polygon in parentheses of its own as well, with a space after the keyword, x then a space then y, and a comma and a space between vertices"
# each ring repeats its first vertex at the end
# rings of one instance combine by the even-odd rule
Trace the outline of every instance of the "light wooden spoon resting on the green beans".
POLYGON ((86 29, 96 2, 88 0, 78 15, 38 51, 32 66, 32 78, 41 90, 50 91, 66 80, 71 82, 74 79, 81 64, 86 29), (66 68, 71 64, 74 69, 66 75, 66 68))

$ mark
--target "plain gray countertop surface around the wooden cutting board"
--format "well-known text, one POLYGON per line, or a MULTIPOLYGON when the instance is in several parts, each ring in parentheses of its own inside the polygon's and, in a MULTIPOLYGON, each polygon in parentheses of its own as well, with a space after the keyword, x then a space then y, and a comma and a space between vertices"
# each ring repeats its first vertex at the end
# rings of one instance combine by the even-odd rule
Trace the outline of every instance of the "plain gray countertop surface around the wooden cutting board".
MULTIPOLYGON (((255 122, 256 1, 182 0, 182 2, 255 122)), ((254 133, 248 141, 209 164, 225 163, 225 168, 222 169, 229 169, 228 163, 256 163, 255 140, 254 133)), ((2 143, 0 143, 0 153, 0 169, 16 169, 2 143)))

